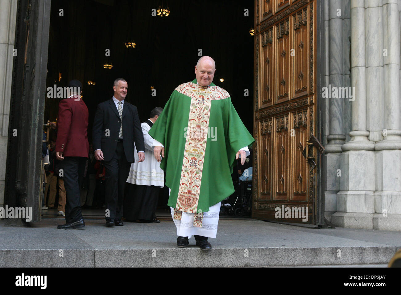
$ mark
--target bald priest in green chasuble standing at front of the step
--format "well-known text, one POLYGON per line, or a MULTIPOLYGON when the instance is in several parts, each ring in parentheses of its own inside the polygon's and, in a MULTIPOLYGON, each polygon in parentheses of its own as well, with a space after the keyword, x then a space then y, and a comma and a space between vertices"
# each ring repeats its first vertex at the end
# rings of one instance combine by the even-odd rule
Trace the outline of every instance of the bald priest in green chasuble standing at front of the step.
POLYGON ((230 95, 212 83, 215 61, 201 57, 196 79, 179 85, 149 134, 160 168, 166 171, 168 205, 177 228, 177 246, 211 249, 221 201, 234 192, 231 173, 245 162, 255 141, 242 123, 230 95))

